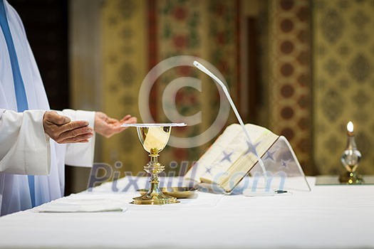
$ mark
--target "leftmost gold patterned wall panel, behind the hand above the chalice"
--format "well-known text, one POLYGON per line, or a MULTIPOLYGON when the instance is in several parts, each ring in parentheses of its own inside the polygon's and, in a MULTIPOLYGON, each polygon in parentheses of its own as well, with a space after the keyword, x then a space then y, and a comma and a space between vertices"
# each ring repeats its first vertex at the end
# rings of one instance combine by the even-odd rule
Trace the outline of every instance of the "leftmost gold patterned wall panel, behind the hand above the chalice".
MULTIPOLYGON (((147 74, 146 1, 103 1, 102 8, 103 110, 118 119, 131 114, 141 121, 137 99, 147 74)), ((103 140, 105 163, 121 161, 125 171, 137 174, 146 159, 133 128, 103 140)))

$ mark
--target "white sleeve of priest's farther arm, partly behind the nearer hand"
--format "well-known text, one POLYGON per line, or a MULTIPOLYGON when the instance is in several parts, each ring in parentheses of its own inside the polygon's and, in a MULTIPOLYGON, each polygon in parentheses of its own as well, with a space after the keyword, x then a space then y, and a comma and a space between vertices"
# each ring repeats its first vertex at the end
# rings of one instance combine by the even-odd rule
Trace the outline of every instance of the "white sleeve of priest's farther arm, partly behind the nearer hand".
MULTIPOLYGON (((94 128, 95 112, 67 109, 62 111, 62 115, 70 117, 71 120, 88 121, 88 126, 94 128)), ((72 166, 92 166, 95 150, 95 133, 88 141, 88 143, 68 144, 66 147, 65 164, 72 166)))

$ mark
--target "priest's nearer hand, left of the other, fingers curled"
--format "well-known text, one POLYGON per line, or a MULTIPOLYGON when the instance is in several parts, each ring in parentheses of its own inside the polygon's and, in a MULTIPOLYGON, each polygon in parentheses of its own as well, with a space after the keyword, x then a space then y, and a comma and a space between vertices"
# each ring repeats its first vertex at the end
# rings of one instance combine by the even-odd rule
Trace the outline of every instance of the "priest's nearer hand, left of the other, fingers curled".
POLYGON ((88 142, 93 129, 83 120, 71 121, 70 118, 47 111, 43 116, 44 132, 59 144, 88 142))

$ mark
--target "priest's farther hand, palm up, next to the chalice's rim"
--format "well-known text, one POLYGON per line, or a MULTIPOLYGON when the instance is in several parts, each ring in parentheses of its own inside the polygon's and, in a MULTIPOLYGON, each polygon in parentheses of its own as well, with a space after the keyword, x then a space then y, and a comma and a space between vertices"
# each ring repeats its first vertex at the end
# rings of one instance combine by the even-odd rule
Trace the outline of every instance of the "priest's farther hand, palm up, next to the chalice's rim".
POLYGON ((122 120, 116 120, 112 117, 108 117, 103 112, 95 112, 95 132, 103 135, 104 137, 112 137, 118 132, 122 132, 126 127, 121 127, 121 124, 134 124, 136 123, 136 117, 126 115, 122 120))

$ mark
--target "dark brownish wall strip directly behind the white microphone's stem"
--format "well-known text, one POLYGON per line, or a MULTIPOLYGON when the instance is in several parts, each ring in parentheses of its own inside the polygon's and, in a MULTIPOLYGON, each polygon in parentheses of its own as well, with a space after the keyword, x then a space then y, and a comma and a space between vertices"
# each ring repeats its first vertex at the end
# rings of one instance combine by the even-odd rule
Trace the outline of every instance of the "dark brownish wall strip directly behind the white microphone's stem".
MULTIPOLYGON (((230 95, 240 108, 240 57, 244 54, 240 51, 239 19, 241 18, 239 1, 211 0, 209 1, 209 27, 208 44, 204 49, 209 51, 209 62, 212 63, 226 80, 229 86, 230 95)), ((209 112, 212 112, 212 119, 217 117, 219 109, 219 92, 214 85, 210 84, 209 112)), ((210 120, 209 123, 214 122, 210 120)), ((230 112, 228 124, 238 122, 234 112, 230 112)))

